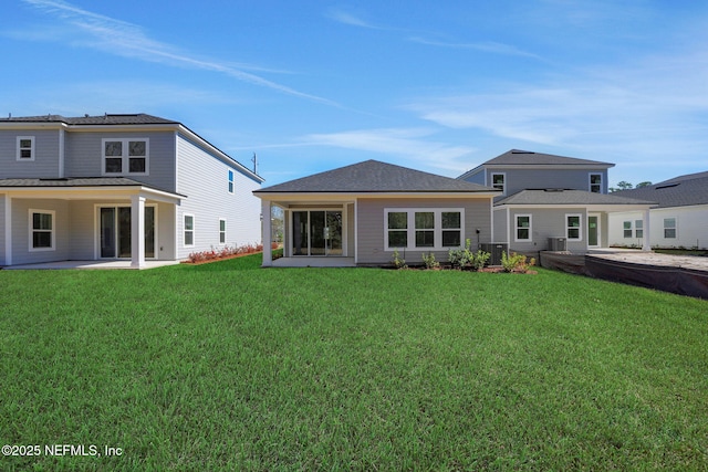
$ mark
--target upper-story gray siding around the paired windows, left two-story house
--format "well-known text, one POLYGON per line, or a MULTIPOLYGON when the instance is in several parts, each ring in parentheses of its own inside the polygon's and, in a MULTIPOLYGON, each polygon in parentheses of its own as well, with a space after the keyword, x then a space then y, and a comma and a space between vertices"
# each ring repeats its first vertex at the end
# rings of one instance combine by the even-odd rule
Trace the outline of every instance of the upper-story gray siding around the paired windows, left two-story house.
POLYGON ((175 132, 140 130, 131 133, 66 133, 65 177, 100 177, 102 175, 102 140, 106 138, 147 138, 149 164, 147 176, 123 175, 162 190, 176 191, 175 132))

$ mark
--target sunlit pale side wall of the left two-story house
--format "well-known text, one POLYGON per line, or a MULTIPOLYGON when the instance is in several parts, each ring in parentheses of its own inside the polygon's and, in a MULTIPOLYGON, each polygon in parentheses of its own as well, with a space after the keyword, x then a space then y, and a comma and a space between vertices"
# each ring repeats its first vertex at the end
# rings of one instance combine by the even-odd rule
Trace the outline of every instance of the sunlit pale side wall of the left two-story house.
POLYGON ((176 191, 187 196, 177 210, 178 259, 223 247, 219 242, 220 218, 227 220, 229 247, 262 241, 260 199, 252 193, 260 183, 181 135, 177 136, 177 159, 176 191), (233 193, 228 191, 229 169, 233 170, 233 193), (185 245, 185 214, 195 217, 194 247, 185 245))

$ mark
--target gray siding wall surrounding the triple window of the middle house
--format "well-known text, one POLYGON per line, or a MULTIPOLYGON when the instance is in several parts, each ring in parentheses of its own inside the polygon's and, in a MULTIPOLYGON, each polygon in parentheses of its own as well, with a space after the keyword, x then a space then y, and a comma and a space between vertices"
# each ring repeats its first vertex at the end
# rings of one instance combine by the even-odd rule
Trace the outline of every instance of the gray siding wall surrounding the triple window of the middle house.
MULTIPOLYGON (((464 208, 465 228, 462 240, 466 238, 478 242, 490 242, 491 212, 489 199, 358 199, 357 231, 358 231, 358 264, 383 265, 389 264, 393 250, 385 249, 384 210, 386 208, 464 208), (480 230, 479 237, 476 230, 480 230)), ((423 253, 429 250, 406 250, 405 259, 410 264, 421 264, 423 253)), ((404 254, 400 253, 403 256, 404 254)), ((448 260, 448 251, 435 251, 438 261, 448 260)))

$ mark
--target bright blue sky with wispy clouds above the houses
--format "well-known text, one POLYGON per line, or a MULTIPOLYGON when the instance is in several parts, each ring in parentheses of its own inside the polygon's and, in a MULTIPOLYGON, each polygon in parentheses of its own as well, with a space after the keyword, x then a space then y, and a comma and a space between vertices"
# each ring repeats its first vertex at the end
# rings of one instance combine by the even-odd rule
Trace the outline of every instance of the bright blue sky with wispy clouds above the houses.
POLYGON ((3 0, 0 116, 179 120, 266 186, 509 149, 708 170, 708 2, 3 0))

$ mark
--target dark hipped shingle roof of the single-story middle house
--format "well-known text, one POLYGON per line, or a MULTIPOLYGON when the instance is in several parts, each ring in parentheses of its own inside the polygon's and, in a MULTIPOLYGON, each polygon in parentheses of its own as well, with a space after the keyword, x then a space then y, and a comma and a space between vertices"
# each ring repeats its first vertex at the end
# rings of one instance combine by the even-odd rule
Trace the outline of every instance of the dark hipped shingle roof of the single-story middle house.
POLYGON ((254 193, 337 192, 493 192, 490 187, 407 167, 366 160, 301 179, 267 187, 254 193))

